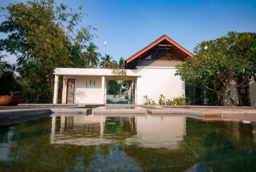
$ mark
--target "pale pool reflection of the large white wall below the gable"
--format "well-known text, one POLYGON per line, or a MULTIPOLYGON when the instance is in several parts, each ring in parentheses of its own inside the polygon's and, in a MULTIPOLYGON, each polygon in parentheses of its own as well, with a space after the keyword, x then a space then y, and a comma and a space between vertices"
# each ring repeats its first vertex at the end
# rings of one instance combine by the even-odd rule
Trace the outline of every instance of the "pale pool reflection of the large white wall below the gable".
POLYGON ((127 138, 126 143, 137 142, 142 147, 175 150, 179 148, 178 141, 182 141, 183 135, 186 135, 186 117, 148 115, 136 117, 136 124, 136 140, 127 138))

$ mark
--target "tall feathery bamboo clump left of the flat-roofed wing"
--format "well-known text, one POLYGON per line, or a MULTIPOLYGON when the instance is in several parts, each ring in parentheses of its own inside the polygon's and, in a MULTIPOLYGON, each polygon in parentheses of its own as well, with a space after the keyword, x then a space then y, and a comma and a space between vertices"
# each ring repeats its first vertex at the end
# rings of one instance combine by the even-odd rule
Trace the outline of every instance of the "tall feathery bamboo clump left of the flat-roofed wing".
POLYGON ((90 34, 92 27, 74 30, 86 15, 80 12, 82 8, 67 12, 66 5, 56 6, 54 0, 15 2, 1 8, 5 21, 0 24, 0 32, 8 36, 0 40, 0 51, 17 56, 20 82, 37 100, 52 99, 55 68, 88 66, 81 56, 85 43, 95 36, 90 34))

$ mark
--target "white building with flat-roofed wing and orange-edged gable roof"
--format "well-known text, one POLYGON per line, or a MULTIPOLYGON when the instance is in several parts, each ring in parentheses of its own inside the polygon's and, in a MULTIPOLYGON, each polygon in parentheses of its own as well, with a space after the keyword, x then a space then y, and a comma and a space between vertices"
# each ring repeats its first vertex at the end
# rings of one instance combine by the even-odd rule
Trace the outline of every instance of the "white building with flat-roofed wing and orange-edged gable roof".
MULTIPOLYGON (((53 103, 57 103, 59 76, 63 76, 62 104, 143 104, 143 96, 157 102, 160 94, 174 98, 185 94, 185 82, 174 76, 177 64, 193 56, 163 35, 125 61, 130 85, 126 95, 109 95, 110 80, 122 80, 109 69, 56 68, 53 103)), ((253 81, 252 86, 256 85, 253 81)), ((251 89, 251 88, 250 88, 251 89)), ((256 86, 250 103, 256 106, 256 86)), ((248 99, 248 97, 247 97, 248 99)), ((158 102, 157 102, 158 104, 158 102)), ((229 104, 225 104, 229 105, 229 104)))

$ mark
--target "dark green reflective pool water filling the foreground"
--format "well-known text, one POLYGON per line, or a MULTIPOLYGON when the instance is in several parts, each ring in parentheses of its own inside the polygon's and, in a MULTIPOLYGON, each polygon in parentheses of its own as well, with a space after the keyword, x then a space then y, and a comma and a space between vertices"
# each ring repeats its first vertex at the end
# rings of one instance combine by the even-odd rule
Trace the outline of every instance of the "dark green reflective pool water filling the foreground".
POLYGON ((0 126, 0 171, 255 171, 256 123, 52 114, 0 126))

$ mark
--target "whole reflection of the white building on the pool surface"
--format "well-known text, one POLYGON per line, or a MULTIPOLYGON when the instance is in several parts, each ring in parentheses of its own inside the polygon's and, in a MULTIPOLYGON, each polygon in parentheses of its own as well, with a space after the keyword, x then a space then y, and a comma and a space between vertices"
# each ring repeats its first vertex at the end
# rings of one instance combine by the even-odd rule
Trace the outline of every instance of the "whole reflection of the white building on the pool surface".
POLYGON ((186 134, 185 116, 93 116, 52 114, 51 144, 136 144, 177 149, 186 134))

